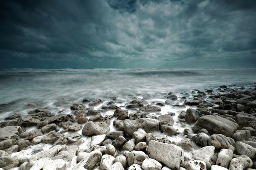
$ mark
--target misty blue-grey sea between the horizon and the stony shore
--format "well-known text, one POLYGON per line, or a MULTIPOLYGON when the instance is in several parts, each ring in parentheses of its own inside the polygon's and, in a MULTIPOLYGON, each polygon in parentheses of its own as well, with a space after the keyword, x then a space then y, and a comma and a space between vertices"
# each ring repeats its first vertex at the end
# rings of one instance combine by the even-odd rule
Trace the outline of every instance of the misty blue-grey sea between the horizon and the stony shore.
POLYGON ((35 103, 65 112, 82 99, 115 96, 122 105, 134 98, 163 100, 169 91, 253 82, 256 68, 0 69, 0 110, 25 114, 35 103))

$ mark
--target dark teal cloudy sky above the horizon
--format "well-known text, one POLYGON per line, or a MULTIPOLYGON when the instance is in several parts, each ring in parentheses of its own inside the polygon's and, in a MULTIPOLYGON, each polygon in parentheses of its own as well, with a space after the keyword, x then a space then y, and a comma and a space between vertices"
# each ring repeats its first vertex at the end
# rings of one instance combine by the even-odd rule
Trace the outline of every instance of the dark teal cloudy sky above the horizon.
POLYGON ((255 0, 0 0, 0 68, 256 67, 255 0))

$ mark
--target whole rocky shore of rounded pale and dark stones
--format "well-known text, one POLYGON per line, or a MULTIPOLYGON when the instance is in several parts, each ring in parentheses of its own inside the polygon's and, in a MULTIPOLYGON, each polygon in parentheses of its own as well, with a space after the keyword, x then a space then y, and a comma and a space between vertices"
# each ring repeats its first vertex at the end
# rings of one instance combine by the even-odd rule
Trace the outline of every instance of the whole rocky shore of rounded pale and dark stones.
POLYGON ((115 97, 99 111, 93 107, 102 100, 84 99, 82 104, 70 107, 71 114, 55 115, 47 108, 37 108, 27 116, 15 113, 0 122, 0 170, 13 167, 19 170, 256 168, 256 88, 221 86, 180 95, 170 92, 165 103, 148 104, 143 99, 134 99, 125 105, 132 110, 130 114, 115 105, 115 97), (183 104, 178 104, 178 100, 183 104), (182 110, 176 113, 177 122, 173 119, 175 113, 158 116, 164 105, 182 110), (193 108, 184 111, 186 106, 193 108), (113 115, 103 117, 102 112, 110 109, 114 110, 113 115), (116 130, 110 131, 113 119, 116 130), (180 132, 175 124, 185 130, 180 132), (25 127, 30 126, 37 129, 27 132, 25 127), (80 147, 84 140, 79 130, 90 138, 86 147, 80 147), (169 136, 181 140, 175 142, 169 136), (52 147, 29 159, 12 156, 41 143, 52 147))

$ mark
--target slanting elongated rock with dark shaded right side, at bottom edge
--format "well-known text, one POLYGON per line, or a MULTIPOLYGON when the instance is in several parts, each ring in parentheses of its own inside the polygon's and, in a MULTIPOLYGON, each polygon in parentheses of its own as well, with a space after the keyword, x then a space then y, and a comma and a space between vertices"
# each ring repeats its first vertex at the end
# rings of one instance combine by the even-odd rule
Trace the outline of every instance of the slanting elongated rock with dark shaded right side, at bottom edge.
POLYGON ((94 150, 90 152, 87 157, 76 164, 76 166, 73 167, 73 170, 82 170, 82 168, 87 170, 94 170, 99 166, 101 159, 102 153, 99 150, 94 150))

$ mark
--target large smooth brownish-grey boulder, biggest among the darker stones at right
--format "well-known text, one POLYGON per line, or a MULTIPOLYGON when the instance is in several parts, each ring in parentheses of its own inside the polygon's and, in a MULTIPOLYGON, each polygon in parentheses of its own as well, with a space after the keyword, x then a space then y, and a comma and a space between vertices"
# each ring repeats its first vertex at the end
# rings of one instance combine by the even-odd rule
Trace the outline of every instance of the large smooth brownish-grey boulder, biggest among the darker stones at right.
POLYGON ((204 128, 211 135, 212 134, 223 134, 224 136, 231 137, 239 126, 227 119, 223 119, 221 116, 202 116, 200 117, 192 130, 197 133, 198 130, 204 128))

